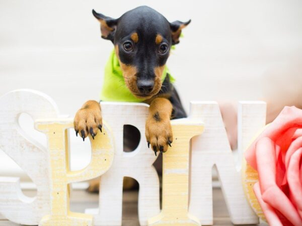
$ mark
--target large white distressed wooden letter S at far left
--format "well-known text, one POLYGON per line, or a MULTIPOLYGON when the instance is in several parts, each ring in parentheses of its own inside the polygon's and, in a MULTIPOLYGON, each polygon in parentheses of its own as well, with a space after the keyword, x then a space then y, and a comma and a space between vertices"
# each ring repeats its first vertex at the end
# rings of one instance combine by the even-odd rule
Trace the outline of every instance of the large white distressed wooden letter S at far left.
POLYGON ((49 96, 30 89, 15 90, 0 98, 0 149, 37 186, 37 196, 32 198, 23 194, 19 178, 1 177, 0 212, 13 222, 37 225, 50 213, 48 156, 46 149, 20 128, 18 117, 22 113, 29 114, 34 120, 57 118, 58 108, 49 96))

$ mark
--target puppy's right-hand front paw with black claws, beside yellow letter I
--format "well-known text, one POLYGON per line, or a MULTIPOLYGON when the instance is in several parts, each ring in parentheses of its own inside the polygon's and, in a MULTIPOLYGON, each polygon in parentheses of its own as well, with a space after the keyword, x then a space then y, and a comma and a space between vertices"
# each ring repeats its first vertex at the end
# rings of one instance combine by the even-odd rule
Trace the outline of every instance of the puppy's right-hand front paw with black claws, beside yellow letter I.
POLYGON ((172 127, 170 123, 170 116, 168 114, 160 114, 155 112, 150 115, 146 121, 145 136, 148 142, 148 147, 151 148, 157 155, 168 150, 168 145, 171 147, 173 142, 172 127))

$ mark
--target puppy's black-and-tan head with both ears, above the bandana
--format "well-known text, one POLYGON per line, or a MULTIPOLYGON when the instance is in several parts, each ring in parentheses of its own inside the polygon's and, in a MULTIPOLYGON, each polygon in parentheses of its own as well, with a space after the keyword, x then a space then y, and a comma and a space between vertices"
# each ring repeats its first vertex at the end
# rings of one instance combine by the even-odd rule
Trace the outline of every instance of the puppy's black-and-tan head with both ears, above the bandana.
POLYGON ((138 7, 118 19, 92 11, 101 23, 102 38, 111 40, 125 83, 138 98, 150 98, 162 86, 162 74, 172 45, 191 21, 168 20, 157 11, 138 7))

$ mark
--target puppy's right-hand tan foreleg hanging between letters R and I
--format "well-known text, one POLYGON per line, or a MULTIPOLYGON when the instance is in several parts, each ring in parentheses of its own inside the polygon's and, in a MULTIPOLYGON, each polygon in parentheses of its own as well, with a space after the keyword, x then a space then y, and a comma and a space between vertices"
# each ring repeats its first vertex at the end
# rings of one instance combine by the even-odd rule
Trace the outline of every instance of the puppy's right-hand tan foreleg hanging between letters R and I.
POLYGON ((168 145, 173 142, 170 118, 173 106, 168 99, 156 98, 149 106, 149 115, 146 121, 145 136, 148 146, 157 155, 168 150, 168 145))

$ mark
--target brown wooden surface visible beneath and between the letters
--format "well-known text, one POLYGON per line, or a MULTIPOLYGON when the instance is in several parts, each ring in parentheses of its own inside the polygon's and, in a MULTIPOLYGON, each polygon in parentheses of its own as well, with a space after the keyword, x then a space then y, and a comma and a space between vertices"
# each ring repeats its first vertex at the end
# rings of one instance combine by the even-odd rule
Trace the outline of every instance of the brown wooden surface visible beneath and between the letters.
MULTIPOLYGON (((33 195, 35 191, 26 190, 26 195, 33 195)), ((123 226, 136 226, 138 223, 137 215, 137 191, 126 191, 123 193, 123 226)), ((70 209, 75 212, 84 212, 86 208, 97 208, 99 205, 98 194, 89 194, 84 190, 73 190, 71 192, 70 209)), ((233 225, 229 217, 228 210, 223 200, 220 188, 213 188, 213 216, 214 225, 233 225)), ((0 226, 15 226, 7 220, 0 220, 0 226)), ((265 223, 258 224, 261 226, 265 223)))

